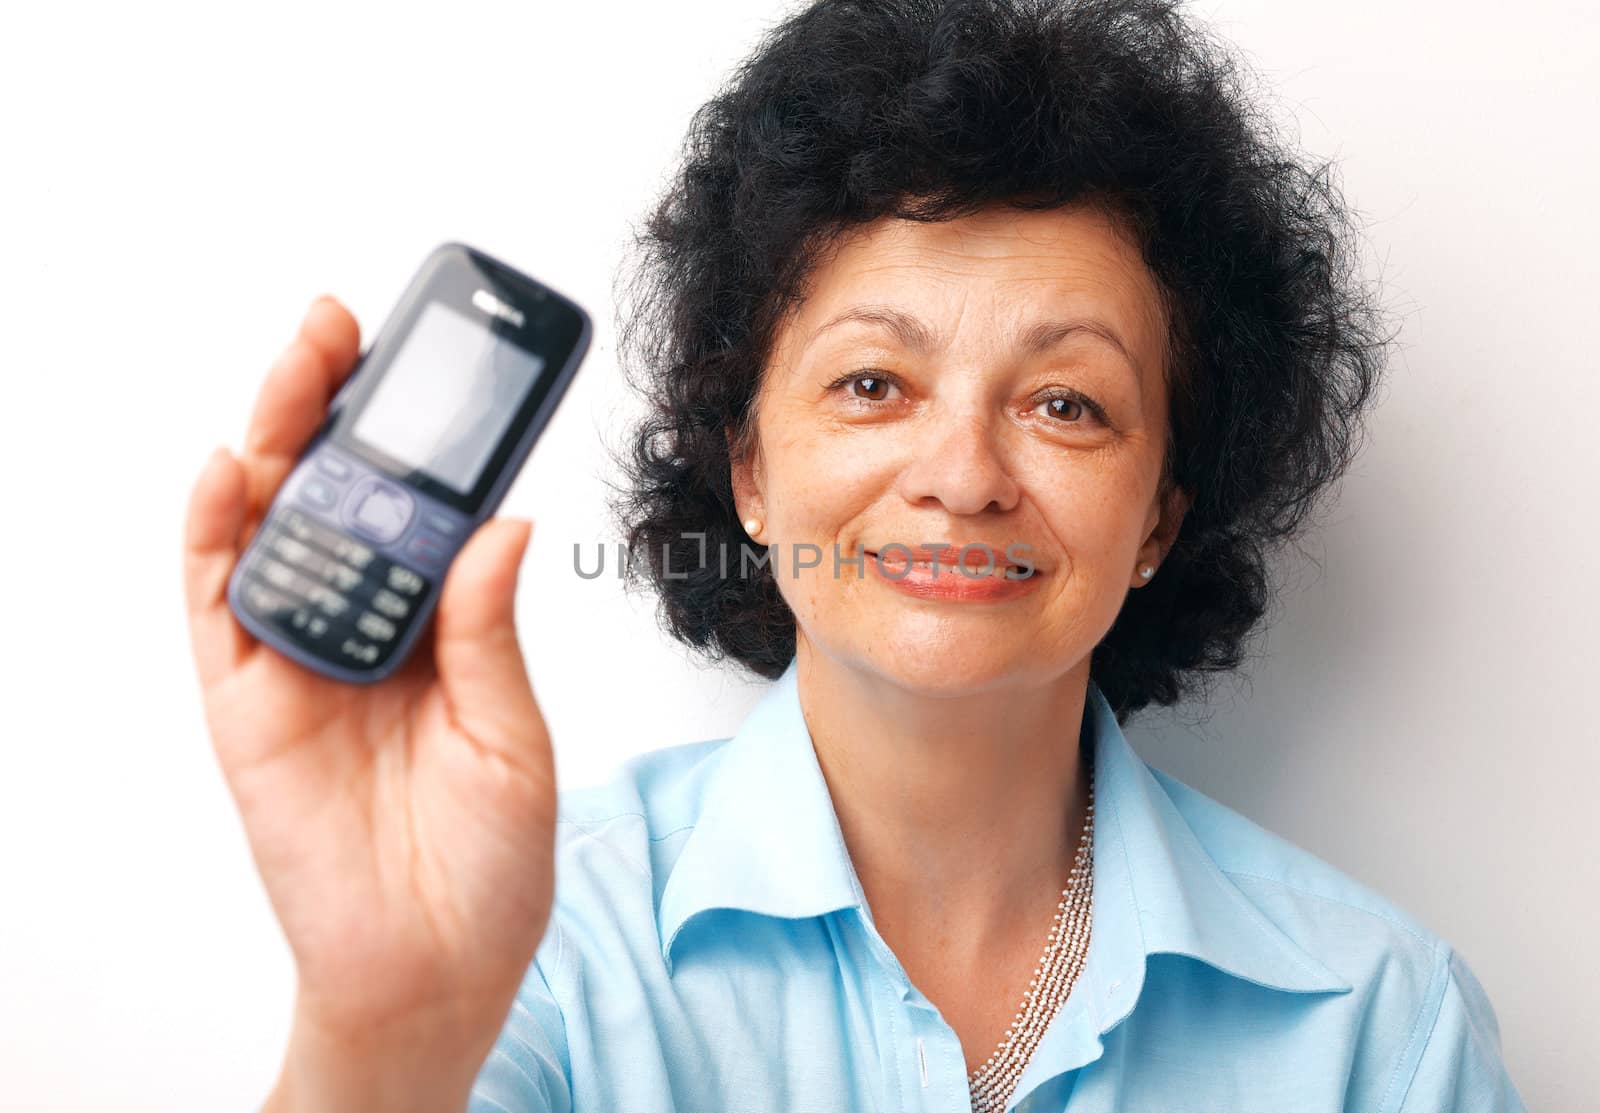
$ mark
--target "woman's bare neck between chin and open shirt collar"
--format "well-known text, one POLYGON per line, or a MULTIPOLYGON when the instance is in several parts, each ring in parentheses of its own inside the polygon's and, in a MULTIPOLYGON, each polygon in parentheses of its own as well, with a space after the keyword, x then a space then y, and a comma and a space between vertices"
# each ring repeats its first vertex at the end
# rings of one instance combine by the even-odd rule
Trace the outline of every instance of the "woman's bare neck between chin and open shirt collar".
POLYGON ((818 763, 891 950, 979 971, 1037 947, 1088 804, 1088 660, 1046 684, 933 696, 803 638, 797 657, 818 763))

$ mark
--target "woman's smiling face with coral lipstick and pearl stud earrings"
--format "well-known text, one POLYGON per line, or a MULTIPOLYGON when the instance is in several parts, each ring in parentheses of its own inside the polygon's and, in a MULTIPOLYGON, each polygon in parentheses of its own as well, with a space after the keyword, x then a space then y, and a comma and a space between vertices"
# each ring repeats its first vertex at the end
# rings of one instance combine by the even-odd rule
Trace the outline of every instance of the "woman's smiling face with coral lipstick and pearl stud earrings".
POLYGON ((734 465, 802 648, 944 694, 1086 670, 1187 509, 1158 491, 1165 334, 1138 248, 1091 206, 840 241, 779 329, 734 465), (973 545, 968 571, 994 553, 995 572, 891 545, 973 545))

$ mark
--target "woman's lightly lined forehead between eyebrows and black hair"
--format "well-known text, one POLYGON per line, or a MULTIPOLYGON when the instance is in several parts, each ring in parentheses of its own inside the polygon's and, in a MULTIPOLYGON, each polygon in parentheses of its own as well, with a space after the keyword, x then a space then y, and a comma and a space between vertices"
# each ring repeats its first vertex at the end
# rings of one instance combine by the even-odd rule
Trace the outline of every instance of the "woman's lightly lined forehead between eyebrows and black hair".
POLYGON ((1123 227, 1091 205, 994 206, 933 222, 883 217, 851 230, 811 272, 795 339, 803 344, 862 302, 922 315, 946 342, 955 339, 950 329, 1077 315, 1104 321, 1146 366, 1158 366, 1165 347, 1155 277, 1123 227))

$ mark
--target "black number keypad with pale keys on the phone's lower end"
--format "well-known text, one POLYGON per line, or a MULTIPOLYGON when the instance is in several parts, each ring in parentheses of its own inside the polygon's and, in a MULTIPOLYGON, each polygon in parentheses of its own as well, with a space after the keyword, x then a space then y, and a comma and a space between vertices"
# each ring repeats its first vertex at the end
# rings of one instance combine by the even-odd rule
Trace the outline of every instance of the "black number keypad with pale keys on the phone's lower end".
POLYGON ((298 510, 272 513, 243 568, 245 604, 302 648, 349 667, 389 659, 430 582, 298 510))

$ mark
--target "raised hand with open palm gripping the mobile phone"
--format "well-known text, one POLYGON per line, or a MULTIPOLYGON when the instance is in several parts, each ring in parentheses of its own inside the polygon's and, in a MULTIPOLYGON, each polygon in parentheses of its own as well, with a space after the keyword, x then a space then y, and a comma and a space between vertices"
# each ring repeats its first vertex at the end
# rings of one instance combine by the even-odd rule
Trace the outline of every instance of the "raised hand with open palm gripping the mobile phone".
POLYGON ((376 684, 328 680, 261 644, 226 600, 358 350, 355 318, 317 299, 261 387, 242 456, 218 449, 195 481, 190 643, 211 740, 299 972, 296 1031, 379 1047, 384 1033, 398 1046, 437 1028, 448 1039, 416 1043, 475 1070, 554 889, 554 758, 512 608, 531 523, 494 518, 472 534, 432 640, 424 632, 376 684))

